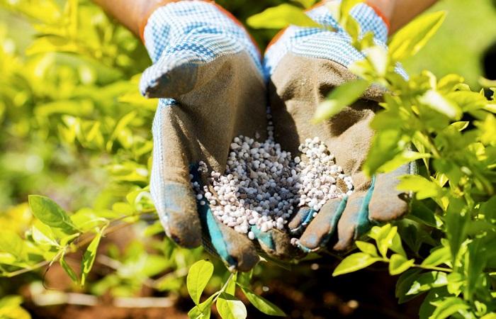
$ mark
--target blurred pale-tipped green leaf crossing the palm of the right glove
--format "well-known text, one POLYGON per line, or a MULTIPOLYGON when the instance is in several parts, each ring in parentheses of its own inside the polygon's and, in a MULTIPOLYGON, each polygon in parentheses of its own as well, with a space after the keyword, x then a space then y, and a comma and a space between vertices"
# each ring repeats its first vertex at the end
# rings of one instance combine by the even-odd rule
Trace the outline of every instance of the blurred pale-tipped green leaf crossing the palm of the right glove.
POLYGON ((332 116, 342 111, 343 108, 350 106, 359 99, 367 88, 368 82, 363 79, 346 82, 341 86, 337 86, 327 96, 327 99, 317 106, 313 121, 318 123, 327 120, 327 118, 332 118, 332 116))

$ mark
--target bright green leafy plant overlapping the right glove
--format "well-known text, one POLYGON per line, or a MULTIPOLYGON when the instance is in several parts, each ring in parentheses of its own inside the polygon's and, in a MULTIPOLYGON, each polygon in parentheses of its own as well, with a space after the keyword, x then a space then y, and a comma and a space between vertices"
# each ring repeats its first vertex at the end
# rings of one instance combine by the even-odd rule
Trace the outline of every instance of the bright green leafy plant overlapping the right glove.
MULTIPOLYGON (((486 99, 484 89, 471 91, 456 74, 438 80, 424 71, 404 79, 395 72, 398 62, 427 43, 445 13, 420 16, 398 31, 385 50, 373 43, 371 33, 361 35, 349 16, 359 2, 328 5, 366 58, 351 65, 358 79, 332 91, 317 108, 315 121, 339 113, 368 86, 383 86, 388 93, 371 123, 376 135, 365 172, 390 172, 420 159, 423 165, 420 174, 401 177, 398 185, 415 193, 410 215, 372 228, 368 238, 374 243, 356 242, 360 252, 344 258, 333 276, 385 262, 391 275, 401 274, 396 289, 400 303, 427 293, 420 318, 495 318, 496 89, 486 99)), ((312 26, 288 18, 287 11, 267 10, 251 19, 252 26, 272 28, 274 16, 281 25, 300 21, 312 26)), ((480 83, 496 86, 485 79, 480 83)))

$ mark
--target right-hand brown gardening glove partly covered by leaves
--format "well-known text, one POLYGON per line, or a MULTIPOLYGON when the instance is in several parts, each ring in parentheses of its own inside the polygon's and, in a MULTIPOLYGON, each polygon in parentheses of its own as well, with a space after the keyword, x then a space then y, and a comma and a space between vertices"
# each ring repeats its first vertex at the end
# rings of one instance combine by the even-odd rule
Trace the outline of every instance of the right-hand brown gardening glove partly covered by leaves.
MULTIPOLYGON (((376 44, 385 47, 388 26, 375 9, 358 4, 350 13, 359 22, 362 35, 372 31, 376 44)), ((312 123, 317 105, 329 91, 356 79, 347 67, 364 55, 351 46, 351 38, 326 6, 320 4, 307 14, 336 31, 290 26, 267 49, 264 67, 270 76, 275 139, 297 154, 298 145, 305 139, 320 138, 335 155, 337 165, 352 177, 354 192, 325 203, 314 220, 315 211, 302 207, 288 225, 294 235, 303 233, 298 247, 305 252, 323 247, 347 250, 374 223, 395 220, 407 212, 407 196, 396 186, 398 177, 412 173, 412 167, 406 165, 372 179, 362 172, 373 138, 369 123, 380 109, 378 102, 384 93, 379 87, 371 87, 359 101, 329 120, 312 123)), ((406 77, 401 69, 398 72, 406 77)), ((338 182, 337 186, 346 193, 345 185, 338 182)))

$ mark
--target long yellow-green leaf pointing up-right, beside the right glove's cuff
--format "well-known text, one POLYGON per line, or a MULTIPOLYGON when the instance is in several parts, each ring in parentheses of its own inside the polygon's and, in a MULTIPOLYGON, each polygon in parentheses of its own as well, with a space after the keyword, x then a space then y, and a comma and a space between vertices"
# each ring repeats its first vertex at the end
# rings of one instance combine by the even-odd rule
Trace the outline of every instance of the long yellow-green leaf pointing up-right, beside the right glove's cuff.
POLYGON ((393 60, 399 61, 416 55, 439 29, 445 16, 443 11, 423 14, 395 33, 389 43, 393 60))

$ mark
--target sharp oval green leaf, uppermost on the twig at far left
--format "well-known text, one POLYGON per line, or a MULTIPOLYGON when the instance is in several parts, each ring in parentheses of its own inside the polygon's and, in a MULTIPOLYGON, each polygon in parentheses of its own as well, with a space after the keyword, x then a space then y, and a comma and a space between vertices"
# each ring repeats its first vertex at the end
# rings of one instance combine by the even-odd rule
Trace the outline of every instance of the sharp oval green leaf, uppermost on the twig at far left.
POLYGON ((60 228, 64 233, 77 233, 71 219, 60 206, 46 196, 30 195, 29 206, 33 215, 50 227, 60 228))

